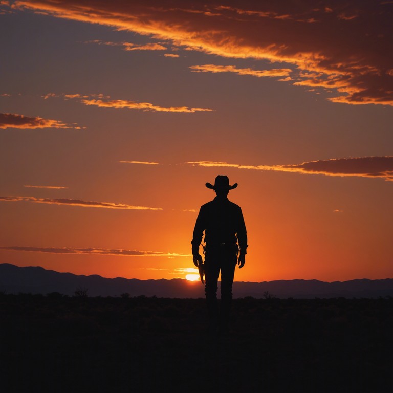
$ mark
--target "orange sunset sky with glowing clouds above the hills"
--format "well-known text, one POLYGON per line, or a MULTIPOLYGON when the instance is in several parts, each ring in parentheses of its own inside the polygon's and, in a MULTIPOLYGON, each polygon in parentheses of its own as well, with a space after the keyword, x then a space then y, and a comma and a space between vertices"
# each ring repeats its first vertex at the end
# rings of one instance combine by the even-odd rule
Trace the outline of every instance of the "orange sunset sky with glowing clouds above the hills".
POLYGON ((385 1, 1 1, 0 262, 184 278, 206 182, 237 281, 391 278, 385 1))

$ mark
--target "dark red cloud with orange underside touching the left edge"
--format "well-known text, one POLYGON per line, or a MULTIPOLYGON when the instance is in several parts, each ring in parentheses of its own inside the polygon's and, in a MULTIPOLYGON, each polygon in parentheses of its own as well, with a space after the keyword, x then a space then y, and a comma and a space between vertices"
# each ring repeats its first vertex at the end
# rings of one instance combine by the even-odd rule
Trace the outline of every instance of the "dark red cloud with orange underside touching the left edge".
POLYGON ((74 124, 66 124, 60 120, 43 119, 41 117, 28 117, 14 113, 0 113, 0 128, 74 128, 81 129, 74 124))

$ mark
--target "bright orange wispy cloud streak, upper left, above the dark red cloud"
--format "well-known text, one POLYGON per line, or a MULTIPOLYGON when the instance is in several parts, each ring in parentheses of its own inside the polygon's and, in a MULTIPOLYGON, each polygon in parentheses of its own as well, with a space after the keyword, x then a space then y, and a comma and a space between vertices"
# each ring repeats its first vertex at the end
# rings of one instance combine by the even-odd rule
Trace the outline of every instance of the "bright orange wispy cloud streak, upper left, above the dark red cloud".
POLYGON ((159 105, 151 104, 150 102, 136 102, 129 100, 110 100, 109 96, 103 94, 56 94, 48 93, 42 96, 43 99, 48 98, 63 98, 79 100, 84 105, 94 105, 102 108, 116 108, 116 109, 135 109, 142 111, 154 111, 154 112, 183 112, 183 113, 194 113, 194 112, 210 112, 212 109, 207 108, 189 108, 187 106, 170 106, 163 107, 159 105), (98 99, 97 99, 98 98, 98 99))

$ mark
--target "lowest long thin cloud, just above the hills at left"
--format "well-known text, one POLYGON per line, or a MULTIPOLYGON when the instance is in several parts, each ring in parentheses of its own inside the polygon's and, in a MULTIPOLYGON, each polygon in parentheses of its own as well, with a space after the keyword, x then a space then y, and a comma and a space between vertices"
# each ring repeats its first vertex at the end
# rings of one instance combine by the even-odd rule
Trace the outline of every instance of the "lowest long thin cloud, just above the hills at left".
POLYGON ((161 251, 138 251, 124 250, 116 248, 73 248, 73 247, 23 247, 10 246, 0 247, 0 250, 7 251, 27 251, 27 252, 45 252, 50 254, 94 254, 94 255, 115 255, 115 256, 191 256, 189 254, 177 254, 161 251))

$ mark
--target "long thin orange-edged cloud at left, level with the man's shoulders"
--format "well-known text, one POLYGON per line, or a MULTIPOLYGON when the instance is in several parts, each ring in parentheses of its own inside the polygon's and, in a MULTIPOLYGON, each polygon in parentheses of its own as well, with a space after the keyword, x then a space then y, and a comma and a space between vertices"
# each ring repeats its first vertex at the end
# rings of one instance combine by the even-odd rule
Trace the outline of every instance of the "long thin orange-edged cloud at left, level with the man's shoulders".
POLYGON ((134 206, 125 205, 121 203, 112 202, 92 202, 82 201, 80 199, 66 199, 66 198, 36 198, 36 197, 0 197, 0 201, 27 201, 34 203, 48 203, 51 205, 69 205, 81 207, 99 207, 105 209, 126 209, 126 210, 162 210, 160 207, 134 206))

